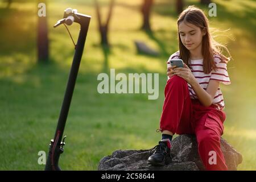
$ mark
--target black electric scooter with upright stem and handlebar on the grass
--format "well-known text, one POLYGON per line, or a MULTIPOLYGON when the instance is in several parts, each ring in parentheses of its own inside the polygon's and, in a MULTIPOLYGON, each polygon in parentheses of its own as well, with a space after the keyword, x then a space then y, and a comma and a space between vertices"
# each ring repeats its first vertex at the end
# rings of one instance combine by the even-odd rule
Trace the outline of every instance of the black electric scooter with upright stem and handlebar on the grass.
MULTIPOLYGON (((73 57, 73 62, 71 66, 71 70, 69 72, 69 78, 67 83, 67 88, 65 90, 64 100, 61 106, 61 111, 59 115, 59 121, 57 122, 57 128, 55 131, 55 136, 51 140, 49 144, 49 153, 46 163, 46 171, 60 171, 59 167, 59 158, 60 154, 64 152, 63 146, 65 145, 64 140, 62 140, 65 123, 68 117, 69 106, 71 104, 73 90, 76 84, 76 77, 79 71, 79 66, 81 62, 82 52, 84 51, 84 44, 86 35, 88 32, 88 27, 90 23, 91 16, 77 13, 77 10, 72 10, 68 8, 64 11, 63 19, 57 21, 57 23, 53 27, 57 27, 60 24, 71 25, 73 22, 80 24, 80 32, 79 38, 77 40, 77 44, 75 44, 75 55, 73 57), (61 141, 62 140, 62 141, 61 141)), ((67 26, 65 25, 67 28, 67 26)), ((70 33, 69 33, 70 35, 70 33)), ((71 37, 72 38, 72 37, 71 37)), ((73 40, 73 39, 72 39, 73 40)))

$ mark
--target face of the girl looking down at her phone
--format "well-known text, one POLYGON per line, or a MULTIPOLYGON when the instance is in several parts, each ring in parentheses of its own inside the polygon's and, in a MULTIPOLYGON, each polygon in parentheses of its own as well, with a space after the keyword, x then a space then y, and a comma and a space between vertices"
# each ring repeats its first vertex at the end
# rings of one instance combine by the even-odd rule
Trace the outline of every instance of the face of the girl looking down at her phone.
POLYGON ((201 46, 203 36, 206 34, 201 28, 184 21, 179 23, 178 30, 181 42, 189 51, 201 46))

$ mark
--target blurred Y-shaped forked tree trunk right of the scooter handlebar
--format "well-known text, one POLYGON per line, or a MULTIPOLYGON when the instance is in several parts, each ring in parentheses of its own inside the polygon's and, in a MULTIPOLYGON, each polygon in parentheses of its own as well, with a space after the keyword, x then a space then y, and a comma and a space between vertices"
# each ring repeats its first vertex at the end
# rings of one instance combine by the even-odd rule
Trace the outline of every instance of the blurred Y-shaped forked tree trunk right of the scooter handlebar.
POLYGON ((109 13, 108 13, 105 24, 102 23, 100 5, 98 3, 98 0, 95 0, 94 2, 95 2, 95 6, 96 6, 96 14, 97 14, 97 19, 98 19, 98 30, 100 31, 100 35, 101 35, 101 45, 109 46, 109 40, 108 40, 109 22, 110 22, 112 13, 113 13, 114 0, 110 1, 109 13))

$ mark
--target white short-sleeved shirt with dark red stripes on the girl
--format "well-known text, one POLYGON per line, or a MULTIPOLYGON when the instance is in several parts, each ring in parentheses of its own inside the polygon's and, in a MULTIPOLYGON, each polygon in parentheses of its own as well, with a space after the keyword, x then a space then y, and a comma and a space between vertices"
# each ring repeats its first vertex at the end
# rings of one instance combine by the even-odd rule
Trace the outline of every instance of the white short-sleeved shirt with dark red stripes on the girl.
MULTIPOLYGON (((168 62, 171 59, 179 59, 179 51, 173 53, 168 59, 168 62)), ((222 82, 222 84, 225 85, 231 84, 225 61, 222 61, 219 55, 214 55, 214 63, 216 64, 217 69, 216 71, 212 70, 209 74, 205 74, 203 71, 203 59, 191 60, 191 63, 189 64, 192 68, 191 72, 193 76, 195 76, 197 82, 199 82, 201 88, 203 88, 204 90, 207 89, 210 80, 220 81, 222 82)), ((190 84, 188 84, 188 90, 189 95, 192 99, 198 99, 195 91, 192 89, 192 86, 190 84)), ((218 87, 217 92, 214 96, 213 104, 217 106, 216 109, 218 110, 223 110, 225 108, 224 97, 221 93, 220 86, 218 87)))

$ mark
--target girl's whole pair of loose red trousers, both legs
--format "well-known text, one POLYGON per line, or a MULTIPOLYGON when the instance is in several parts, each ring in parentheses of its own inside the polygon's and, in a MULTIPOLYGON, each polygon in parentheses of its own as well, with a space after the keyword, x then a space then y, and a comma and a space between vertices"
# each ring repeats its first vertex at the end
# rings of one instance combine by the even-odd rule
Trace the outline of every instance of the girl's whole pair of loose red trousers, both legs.
POLYGON ((203 106, 197 99, 191 99, 187 81, 179 76, 171 77, 164 89, 163 112, 160 130, 173 134, 195 134, 200 158, 207 170, 227 170, 220 148, 223 134, 224 111, 212 104, 203 106))

